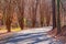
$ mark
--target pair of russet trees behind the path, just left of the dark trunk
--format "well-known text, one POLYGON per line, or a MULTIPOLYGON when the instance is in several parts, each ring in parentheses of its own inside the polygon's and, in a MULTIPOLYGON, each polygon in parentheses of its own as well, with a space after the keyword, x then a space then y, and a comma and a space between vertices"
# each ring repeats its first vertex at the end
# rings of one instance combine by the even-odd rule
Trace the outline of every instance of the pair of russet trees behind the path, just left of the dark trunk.
POLYGON ((52 13, 52 6, 51 0, 40 0, 40 21, 41 26, 48 26, 51 21, 51 13, 52 13))

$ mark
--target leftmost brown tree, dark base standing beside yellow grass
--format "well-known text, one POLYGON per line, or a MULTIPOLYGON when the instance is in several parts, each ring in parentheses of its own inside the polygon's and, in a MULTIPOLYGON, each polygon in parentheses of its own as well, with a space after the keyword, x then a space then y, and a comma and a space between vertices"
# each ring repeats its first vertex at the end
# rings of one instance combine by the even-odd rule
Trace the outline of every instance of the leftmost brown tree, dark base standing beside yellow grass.
POLYGON ((11 0, 1 0, 2 2, 2 11, 3 11, 3 18, 4 18, 4 23, 7 26, 8 32, 11 32, 11 0))

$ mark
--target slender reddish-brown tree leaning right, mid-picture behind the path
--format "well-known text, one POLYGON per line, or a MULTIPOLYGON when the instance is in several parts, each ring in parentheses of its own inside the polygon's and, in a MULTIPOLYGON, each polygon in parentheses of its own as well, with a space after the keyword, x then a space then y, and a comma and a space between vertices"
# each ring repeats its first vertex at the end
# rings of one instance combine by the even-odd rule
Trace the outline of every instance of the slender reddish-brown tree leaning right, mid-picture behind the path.
POLYGON ((35 28, 35 22, 36 22, 36 11, 37 11, 37 4, 38 0, 34 0, 35 3, 33 4, 33 16, 32 16, 32 28, 35 28))

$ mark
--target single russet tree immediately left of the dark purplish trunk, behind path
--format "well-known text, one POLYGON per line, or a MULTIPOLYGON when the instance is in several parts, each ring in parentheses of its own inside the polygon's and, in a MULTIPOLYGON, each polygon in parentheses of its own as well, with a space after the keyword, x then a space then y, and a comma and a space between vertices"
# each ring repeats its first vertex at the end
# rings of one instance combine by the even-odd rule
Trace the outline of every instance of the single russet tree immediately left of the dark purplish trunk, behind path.
POLYGON ((52 3, 47 3, 47 9, 46 9, 46 26, 50 26, 50 22, 51 21, 51 16, 52 16, 52 3))

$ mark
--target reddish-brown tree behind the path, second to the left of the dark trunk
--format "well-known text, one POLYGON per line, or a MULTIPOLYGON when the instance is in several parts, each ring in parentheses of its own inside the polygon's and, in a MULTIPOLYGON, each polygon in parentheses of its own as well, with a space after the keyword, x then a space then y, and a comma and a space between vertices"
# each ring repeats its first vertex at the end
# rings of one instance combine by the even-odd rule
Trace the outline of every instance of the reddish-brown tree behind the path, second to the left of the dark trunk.
POLYGON ((41 1, 41 3, 40 3, 40 15, 41 15, 41 26, 43 26, 43 24, 44 24, 44 19, 45 19, 45 16, 44 16, 44 13, 45 13, 45 8, 46 8, 46 4, 45 4, 45 0, 40 0, 41 1))

